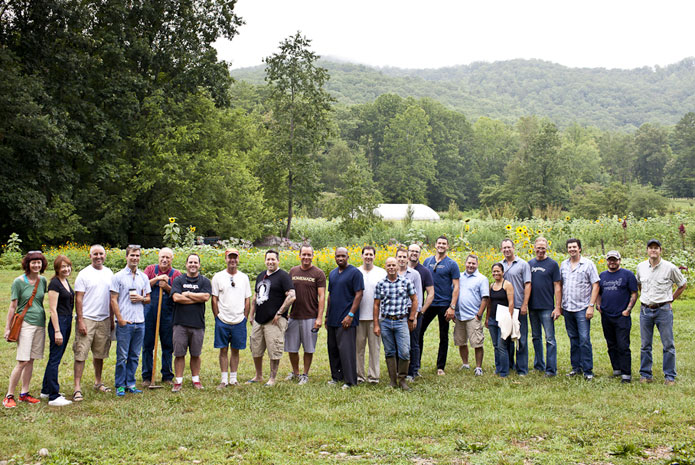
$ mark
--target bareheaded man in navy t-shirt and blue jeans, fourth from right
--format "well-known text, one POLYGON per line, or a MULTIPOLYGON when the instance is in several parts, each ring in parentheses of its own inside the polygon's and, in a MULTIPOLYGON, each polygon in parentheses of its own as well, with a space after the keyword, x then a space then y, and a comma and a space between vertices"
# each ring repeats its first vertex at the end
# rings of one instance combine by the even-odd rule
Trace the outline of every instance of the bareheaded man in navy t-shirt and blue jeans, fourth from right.
POLYGON ((533 368, 545 372, 545 376, 557 373, 557 343, 555 342, 555 320, 562 315, 562 277, 557 262, 548 257, 548 240, 539 237, 534 243, 536 258, 529 260, 531 268, 531 298, 529 299, 529 321, 535 354, 533 368), (547 360, 543 359, 543 334, 547 360))

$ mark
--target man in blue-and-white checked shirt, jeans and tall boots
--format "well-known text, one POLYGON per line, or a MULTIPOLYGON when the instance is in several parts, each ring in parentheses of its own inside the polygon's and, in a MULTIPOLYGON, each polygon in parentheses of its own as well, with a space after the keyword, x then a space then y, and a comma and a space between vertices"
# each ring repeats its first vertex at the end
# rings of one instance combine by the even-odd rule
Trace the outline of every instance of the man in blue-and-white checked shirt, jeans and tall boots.
POLYGON ((381 335, 384 344, 391 387, 408 391, 405 377, 410 364, 410 331, 417 324, 417 295, 413 283, 398 275, 394 257, 386 259, 384 268, 386 278, 379 281, 374 291, 374 334, 381 335))

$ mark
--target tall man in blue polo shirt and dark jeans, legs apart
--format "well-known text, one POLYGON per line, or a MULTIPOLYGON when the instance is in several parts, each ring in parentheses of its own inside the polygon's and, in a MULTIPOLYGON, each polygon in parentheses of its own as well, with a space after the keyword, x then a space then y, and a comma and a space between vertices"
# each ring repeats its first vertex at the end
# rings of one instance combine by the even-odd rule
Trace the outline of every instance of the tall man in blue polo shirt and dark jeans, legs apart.
POLYGON ((447 350, 449 349, 449 321, 454 319, 454 310, 459 295, 458 263, 447 256, 449 240, 440 236, 435 243, 437 254, 428 257, 423 264, 432 272, 434 281, 434 300, 422 317, 420 330, 420 358, 424 352, 425 331, 432 320, 439 320, 439 352, 437 353, 437 374, 445 374, 447 350))

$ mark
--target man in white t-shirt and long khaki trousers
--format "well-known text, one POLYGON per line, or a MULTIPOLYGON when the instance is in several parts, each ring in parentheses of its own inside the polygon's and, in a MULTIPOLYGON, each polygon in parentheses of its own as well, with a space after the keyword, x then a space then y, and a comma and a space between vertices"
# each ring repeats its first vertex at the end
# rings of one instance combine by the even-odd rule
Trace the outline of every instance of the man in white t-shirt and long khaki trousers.
POLYGON ((360 302, 360 324, 357 326, 357 382, 379 382, 379 352, 381 338, 374 334, 374 290, 386 277, 386 270, 374 266, 376 250, 371 245, 362 249, 362 266, 358 268, 364 277, 364 293, 360 302), (364 373, 365 346, 369 344, 369 371, 364 373))

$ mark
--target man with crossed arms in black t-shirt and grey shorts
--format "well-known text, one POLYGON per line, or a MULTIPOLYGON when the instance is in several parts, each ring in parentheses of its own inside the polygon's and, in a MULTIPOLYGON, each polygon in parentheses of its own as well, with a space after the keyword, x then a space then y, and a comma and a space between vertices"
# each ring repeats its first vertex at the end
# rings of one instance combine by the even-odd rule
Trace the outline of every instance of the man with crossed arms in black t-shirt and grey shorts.
POLYGON ((174 301, 174 387, 179 392, 183 384, 186 352, 191 354, 193 387, 203 389, 200 383, 200 354, 205 335, 205 302, 210 299, 212 284, 199 273, 200 257, 190 254, 186 259, 186 274, 174 279, 171 298, 174 301))

